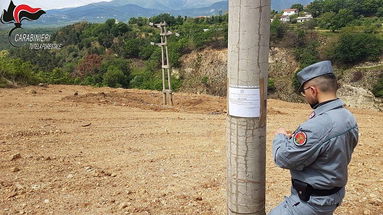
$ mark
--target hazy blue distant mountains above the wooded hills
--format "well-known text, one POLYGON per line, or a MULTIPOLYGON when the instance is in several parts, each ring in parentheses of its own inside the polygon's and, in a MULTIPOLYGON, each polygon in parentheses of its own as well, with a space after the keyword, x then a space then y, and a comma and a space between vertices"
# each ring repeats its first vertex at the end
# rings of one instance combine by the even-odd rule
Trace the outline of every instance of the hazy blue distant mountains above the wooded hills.
MULTIPOLYGON (((307 5, 312 0, 271 1, 272 9, 281 11, 295 3, 307 5)), ((174 16, 211 16, 223 14, 227 10, 228 2, 217 0, 113 0, 76 8, 48 10, 30 25, 62 26, 79 21, 104 22, 110 18, 126 22, 132 17, 151 17, 161 13, 174 16)))

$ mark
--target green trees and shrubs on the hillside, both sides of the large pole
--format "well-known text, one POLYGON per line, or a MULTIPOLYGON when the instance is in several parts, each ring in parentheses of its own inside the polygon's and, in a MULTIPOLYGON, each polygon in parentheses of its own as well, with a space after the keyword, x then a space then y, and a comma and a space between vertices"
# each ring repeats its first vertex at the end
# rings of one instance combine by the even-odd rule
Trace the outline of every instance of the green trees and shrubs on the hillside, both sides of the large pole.
MULTIPOLYGON (((295 4, 292 7, 301 13, 311 12, 316 17, 295 24, 281 22, 280 13, 273 11, 271 46, 292 49, 301 67, 322 59, 346 66, 377 60, 383 52, 381 4, 381 0, 315 0, 307 8, 295 4), (356 7, 355 2, 363 4, 356 7), (338 31, 332 36, 333 41, 325 46, 319 42, 321 29, 338 31)), ((131 18, 127 23, 115 19, 105 23, 76 23, 54 33, 53 41, 63 44, 61 50, 36 51, 26 47, 10 49, 3 54, 2 60, 10 64, 28 63, 32 70, 26 70, 26 76, 22 77, 9 63, 4 64, 8 66, 0 68, 0 85, 4 80, 30 80, 30 83, 161 89, 161 51, 158 46, 151 45, 151 42, 160 42, 159 29, 149 23, 164 21, 168 30, 179 34, 168 40, 173 67, 180 67, 180 58, 193 50, 227 47, 227 14, 200 18, 160 14, 151 18, 131 18)), ((175 78, 173 83, 174 89, 180 87, 182 76, 175 78)))

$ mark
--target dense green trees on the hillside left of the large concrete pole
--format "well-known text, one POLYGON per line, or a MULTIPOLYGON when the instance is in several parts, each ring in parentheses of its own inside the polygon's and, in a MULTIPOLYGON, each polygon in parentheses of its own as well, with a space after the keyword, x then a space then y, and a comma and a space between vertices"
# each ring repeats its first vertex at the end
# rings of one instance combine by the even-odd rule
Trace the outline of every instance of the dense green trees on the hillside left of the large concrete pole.
MULTIPOLYGON (((170 31, 180 35, 168 41, 174 67, 179 67, 180 57, 192 50, 226 47, 227 15, 188 18, 160 14, 132 18, 128 23, 109 19, 105 23, 65 26, 53 35, 53 41, 63 44, 61 50, 10 49, 6 58, 30 63, 38 70, 37 79, 49 83, 161 89, 157 81, 161 52, 158 46, 151 45, 160 42, 159 29, 150 27, 149 22, 163 21, 170 31), (133 68, 132 62, 143 62, 143 66, 133 68)), ((180 81, 175 80, 174 88, 179 86, 180 81)))

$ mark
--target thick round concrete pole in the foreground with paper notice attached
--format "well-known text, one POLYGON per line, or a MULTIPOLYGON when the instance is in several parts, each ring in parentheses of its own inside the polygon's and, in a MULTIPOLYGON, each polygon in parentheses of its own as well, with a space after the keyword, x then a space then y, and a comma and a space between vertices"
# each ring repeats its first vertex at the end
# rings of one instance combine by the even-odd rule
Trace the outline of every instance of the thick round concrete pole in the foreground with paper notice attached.
POLYGON ((265 215, 270 0, 229 0, 227 214, 265 215))

